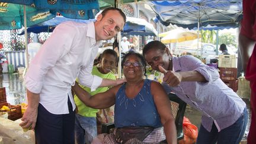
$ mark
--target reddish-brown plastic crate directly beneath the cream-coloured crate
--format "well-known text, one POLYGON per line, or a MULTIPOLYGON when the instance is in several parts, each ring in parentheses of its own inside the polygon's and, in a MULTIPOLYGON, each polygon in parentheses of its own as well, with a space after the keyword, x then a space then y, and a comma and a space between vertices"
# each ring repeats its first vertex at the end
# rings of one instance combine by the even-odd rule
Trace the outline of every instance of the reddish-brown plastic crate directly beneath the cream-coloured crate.
POLYGON ((222 81, 235 81, 236 80, 236 68, 219 68, 220 70, 220 79, 222 81))

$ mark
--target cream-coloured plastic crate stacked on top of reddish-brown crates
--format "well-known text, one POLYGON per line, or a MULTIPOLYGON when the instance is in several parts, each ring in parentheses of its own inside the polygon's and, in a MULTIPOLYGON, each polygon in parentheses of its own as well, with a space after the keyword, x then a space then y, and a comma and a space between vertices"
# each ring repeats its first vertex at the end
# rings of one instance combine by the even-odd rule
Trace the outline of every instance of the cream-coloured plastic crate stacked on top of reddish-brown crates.
POLYGON ((236 55, 219 55, 219 68, 236 68, 236 55))

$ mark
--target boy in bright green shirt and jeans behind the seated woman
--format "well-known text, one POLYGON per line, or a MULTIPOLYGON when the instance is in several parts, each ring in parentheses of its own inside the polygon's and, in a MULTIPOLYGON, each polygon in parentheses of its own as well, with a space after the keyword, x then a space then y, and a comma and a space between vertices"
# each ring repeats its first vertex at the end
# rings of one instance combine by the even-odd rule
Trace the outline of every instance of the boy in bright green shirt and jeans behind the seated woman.
MULTIPOLYGON (((92 75, 100 76, 105 79, 116 79, 112 72, 117 65, 117 53, 114 50, 104 50, 100 58, 100 63, 92 68, 92 75)), ((107 91, 108 87, 98 87, 95 91, 80 85, 85 91, 91 95, 107 91)), ((81 100, 74 96, 78 112, 75 119, 75 140, 78 144, 91 143, 92 139, 97 136, 97 120, 96 116, 99 110, 87 107, 81 100)))

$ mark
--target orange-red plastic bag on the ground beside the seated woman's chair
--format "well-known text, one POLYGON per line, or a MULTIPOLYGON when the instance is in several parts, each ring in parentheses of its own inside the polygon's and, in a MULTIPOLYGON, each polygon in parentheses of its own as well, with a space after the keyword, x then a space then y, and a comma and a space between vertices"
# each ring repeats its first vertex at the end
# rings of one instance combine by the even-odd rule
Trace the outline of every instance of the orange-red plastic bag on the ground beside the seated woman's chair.
POLYGON ((179 144, 192 144, 196 143, 198 136, 197 126, 190 123, 190 120, 187 117, 183 119, 183 133, 184 139, 179 140, 179 144))

